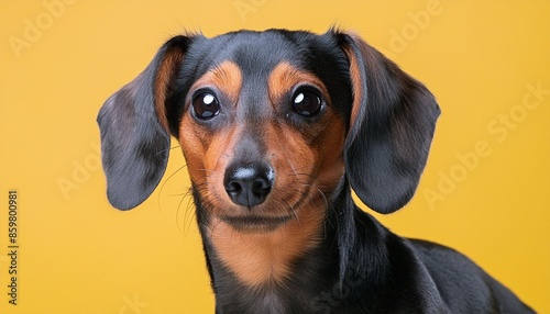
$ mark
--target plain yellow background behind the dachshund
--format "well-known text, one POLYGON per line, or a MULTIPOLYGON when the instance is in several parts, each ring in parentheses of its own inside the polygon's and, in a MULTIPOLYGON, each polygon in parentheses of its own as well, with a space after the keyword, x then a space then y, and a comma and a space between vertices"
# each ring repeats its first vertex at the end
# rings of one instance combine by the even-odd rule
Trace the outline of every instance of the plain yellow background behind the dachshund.
POLYGON ((424 81, 443 112, 415 199, 380 220, 458 248, 550 313, 550 2, 59 1, 0 1, 0 313, 213 313, 182 155, 172 150, 148 201, 118 212, 96 114, 184 30, 334 24, 424 81), (6 288, 9 189, 18 306, 6 288))

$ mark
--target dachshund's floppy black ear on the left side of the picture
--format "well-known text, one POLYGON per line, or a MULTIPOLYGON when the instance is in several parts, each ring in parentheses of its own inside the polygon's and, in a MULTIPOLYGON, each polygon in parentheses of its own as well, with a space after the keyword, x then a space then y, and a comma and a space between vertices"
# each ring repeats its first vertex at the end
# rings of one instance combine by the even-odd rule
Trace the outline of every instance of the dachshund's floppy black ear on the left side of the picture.
POLYGON ((99 111, 107 197, 117 209, 130 210, 145 201, 164 175, 170 143, 165 102, 191 41, 169 40, 99 111))

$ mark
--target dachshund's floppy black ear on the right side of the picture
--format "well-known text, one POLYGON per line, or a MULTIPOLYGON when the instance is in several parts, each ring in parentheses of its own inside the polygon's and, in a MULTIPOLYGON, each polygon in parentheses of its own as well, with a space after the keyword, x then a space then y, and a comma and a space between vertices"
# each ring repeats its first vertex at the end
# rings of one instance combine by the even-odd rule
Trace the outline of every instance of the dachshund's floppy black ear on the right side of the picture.
POLYGON ((361 38, 341 35, 353 91, 346 177, 363 203, 392 213, 415 193, 440 110, 422 83, 361 38))

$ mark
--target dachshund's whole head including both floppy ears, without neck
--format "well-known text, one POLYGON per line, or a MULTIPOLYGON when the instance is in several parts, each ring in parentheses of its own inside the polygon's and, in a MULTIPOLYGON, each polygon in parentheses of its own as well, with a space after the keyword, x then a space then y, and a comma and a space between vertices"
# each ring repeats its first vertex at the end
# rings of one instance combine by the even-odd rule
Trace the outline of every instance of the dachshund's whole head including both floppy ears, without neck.
POLYGON ((172 134, 196 201, 237 229, 322 216, 342 182, 391 213, 416 190, 438 115, 420 82, 354 35, 176 36, 99 113, 108 198, 121 210, 148 198, 172 134))

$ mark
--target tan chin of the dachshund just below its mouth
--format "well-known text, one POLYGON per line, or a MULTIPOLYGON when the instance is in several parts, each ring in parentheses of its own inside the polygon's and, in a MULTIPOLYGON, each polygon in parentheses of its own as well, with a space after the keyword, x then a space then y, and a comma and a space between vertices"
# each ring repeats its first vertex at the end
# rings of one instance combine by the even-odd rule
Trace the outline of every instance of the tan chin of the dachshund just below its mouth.
POLYGON ((270 233, 284 226, 293 216, 260 216, 260 215, 243 215, 243 216, 221 216, 221 221, 230 225, 232 228, 242 233, 270 233))

